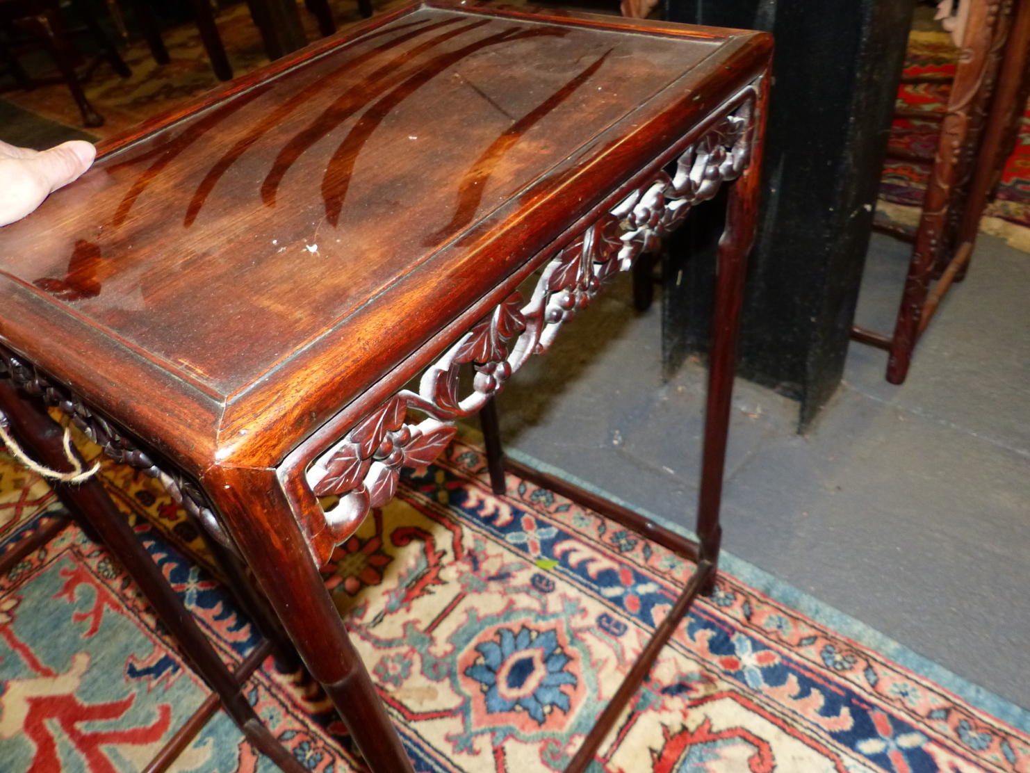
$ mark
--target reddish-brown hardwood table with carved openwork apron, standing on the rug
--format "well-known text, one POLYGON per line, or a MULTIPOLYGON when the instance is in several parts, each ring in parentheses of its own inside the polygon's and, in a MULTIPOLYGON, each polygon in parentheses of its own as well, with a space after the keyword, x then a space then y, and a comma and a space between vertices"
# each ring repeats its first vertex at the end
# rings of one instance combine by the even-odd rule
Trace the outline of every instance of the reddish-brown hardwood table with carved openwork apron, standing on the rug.
POLYGON ((29 446, 45 438, 13 388, 160 477, 249 566, 369 766, 410 771, 318 568, 402 467, 432 462, 608 277, 735 180, 699 546, 634 522, 698 568, 582 771, 714 579, 770 52, 759 33, 428 2, 280 60, 105 142, 0 230, 0 405, 29 446))

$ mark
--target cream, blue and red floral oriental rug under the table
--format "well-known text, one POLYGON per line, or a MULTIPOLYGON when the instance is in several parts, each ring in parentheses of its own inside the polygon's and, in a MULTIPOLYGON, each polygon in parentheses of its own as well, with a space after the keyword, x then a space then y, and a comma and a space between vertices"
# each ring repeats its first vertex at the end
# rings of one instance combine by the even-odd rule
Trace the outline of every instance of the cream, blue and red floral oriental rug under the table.
MULTIPOLYGON (((691 566, 518 478, 496 497, 484 467, 455 441, 336 549, 324 578, 416 770, 560 771, 691 566)), ((103 477, 239 663, 256 637, 181 511, 134 470, 107 462, 103 477)), ((58 507, 0 460, 0 549, 58 507)), ((797 611, 798 592, 732 557, 726 567, 591 773, 1030 771, 1026 712, 942 672, 928 678, 902 665, 912 653, 892 660, 853 638, 859 624, 845 635, 827 625, 843 617, 797 611)), ((142 770, 207 694, 119 563, 77 526, 0 577, 4 773, 142 770)), ((269 660, 246 694, 309 770, 366 770, 310 681, 269 660)), ((218 713, 171 770, 273 768, 218 713)))

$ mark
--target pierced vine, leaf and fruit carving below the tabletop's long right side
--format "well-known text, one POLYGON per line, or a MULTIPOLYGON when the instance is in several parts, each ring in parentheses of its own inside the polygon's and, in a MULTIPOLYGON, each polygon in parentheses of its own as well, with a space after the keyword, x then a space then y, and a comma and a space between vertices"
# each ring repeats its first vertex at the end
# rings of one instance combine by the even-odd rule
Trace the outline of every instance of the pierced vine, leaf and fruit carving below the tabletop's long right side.
POLYGON ((403 391, 359 422, 307 473, 315 496, 340 495, 325 513, 345 534, 369 508, 388 502, 402 467, 432 463, 454 435, 451 423, 475 413, 529 355, 546 350, 558 328, 586 306, 603 282, 627 270, 690 206, 737 177, 750 149, 751 102, 723 117, 677 161, 670 177, 657 172, 578 235, 541 274, 533 297, 514 293, 459 338, 422 374, 417 393, 403 391), (461 366, 476 371, 471 395, 458 394, 461 366), (409 409, 428 417, 405 424, 409 409))

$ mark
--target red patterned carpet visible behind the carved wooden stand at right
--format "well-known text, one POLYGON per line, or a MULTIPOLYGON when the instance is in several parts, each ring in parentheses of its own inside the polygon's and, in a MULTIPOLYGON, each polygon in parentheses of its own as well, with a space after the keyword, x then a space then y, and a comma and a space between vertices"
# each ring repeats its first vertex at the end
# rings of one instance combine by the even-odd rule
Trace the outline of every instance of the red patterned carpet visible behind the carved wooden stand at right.
MULTIPOLYGON (((904 65, 906 75, 955 73, 958 49, 945 32, 912 32, 904 65)), ((902 83, 898 106, 942 113, 951 87, 939 83, 902 83)), ((939 122, 895 117, 890 146, 900 150, 934 153, 939 122)), ((922 206, 930 164, 888 159, 880 183, 880 198, 902 206, 922 206)), ((998 198, 988 205, 988 217, 1030 226, 1030 114, 1024 114, 1016 149, 1001 177, 998 198)))

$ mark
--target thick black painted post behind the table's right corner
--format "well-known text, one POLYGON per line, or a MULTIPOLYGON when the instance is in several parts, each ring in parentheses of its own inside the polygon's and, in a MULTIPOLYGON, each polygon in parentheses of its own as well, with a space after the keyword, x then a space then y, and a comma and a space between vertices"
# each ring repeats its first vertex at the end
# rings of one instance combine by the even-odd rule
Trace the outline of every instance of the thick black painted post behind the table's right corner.
MULTIPOLYGON (((914 0, 665 2, 776 36, 737 372, 799 400, 803 430, 844 372, 914 0)), ((665 259, 666 371, 708 340, 718 231, 693 220, 665 259)))

